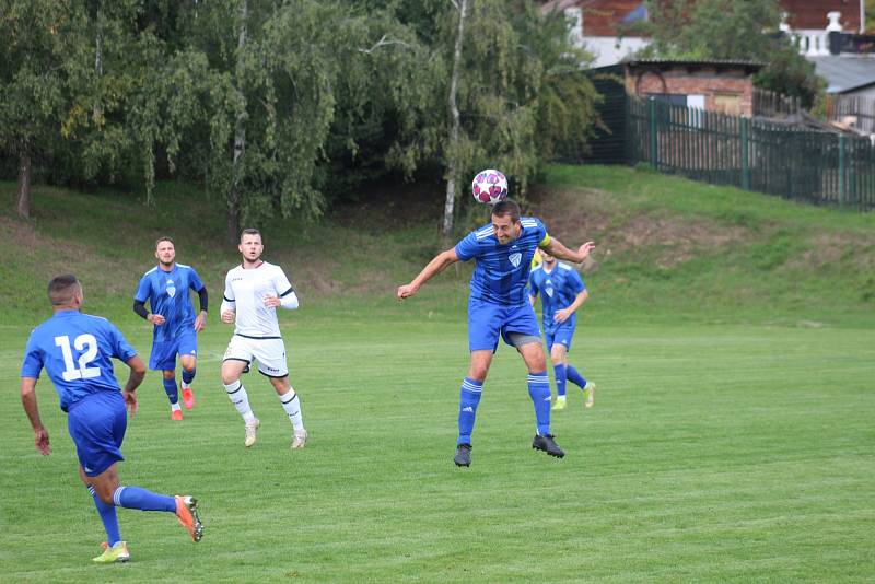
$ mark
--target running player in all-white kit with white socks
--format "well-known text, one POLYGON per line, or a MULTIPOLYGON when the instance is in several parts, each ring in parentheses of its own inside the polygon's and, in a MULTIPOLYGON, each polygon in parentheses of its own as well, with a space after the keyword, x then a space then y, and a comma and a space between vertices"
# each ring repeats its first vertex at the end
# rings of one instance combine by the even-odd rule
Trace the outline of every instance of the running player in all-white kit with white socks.
POLYGON ((265 246, 258 230, 243 230, 237 249, 243 261, 225 277, 221 308, 222 322, 234 323, 234 336, 222 361, 222 383, 231 402, 243 416, 246 428, 244 445, 248 448, 255 444, 261 422, 249 407, 240 376, 249 371, 253 361, 257 361, 258 372, 270 379, 292 422, 292 448, 303 448, 307 431, 301 417, 301 400, 289 384, 285 344, 277 322, 277 308, 298 308, 298 295, 282 268, 261 259, 265 246))

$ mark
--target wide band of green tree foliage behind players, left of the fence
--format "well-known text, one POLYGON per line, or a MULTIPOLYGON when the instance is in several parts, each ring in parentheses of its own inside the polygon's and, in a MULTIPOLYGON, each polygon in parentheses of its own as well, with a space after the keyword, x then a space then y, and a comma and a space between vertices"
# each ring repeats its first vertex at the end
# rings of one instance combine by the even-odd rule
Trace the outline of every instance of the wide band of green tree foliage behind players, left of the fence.
POLYGON ((7 154, 42 153, 58 183, 142 185, 148 203, 182 174, 247 223, 313 220, 387 173, 445 179, 451 157, 460 184, 494 166, 524 195, 595 119, 588 57, 528 2, 471 1, 456 143, 450 0, 5 4, 7 154))

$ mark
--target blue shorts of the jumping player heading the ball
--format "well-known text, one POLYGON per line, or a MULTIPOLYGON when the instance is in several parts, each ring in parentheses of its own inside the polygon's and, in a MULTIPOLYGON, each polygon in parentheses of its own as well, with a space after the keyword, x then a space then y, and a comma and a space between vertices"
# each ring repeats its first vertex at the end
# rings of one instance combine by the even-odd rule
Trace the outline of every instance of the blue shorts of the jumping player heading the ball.
POLYGON ((540 328, 535 311, 526 303, 505 306, 482 300, 468 301, 468 349, 471 351, 495 351, 499 335, 504 342, 515 347, 508 335, 517 332, 540 340, 540 328))

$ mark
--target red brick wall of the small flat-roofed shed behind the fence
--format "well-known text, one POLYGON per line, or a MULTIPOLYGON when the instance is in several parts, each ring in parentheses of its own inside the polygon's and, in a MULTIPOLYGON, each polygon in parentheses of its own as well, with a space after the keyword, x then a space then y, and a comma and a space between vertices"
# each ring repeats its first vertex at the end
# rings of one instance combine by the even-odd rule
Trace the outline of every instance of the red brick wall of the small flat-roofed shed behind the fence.
POLYGON ((630 67, 626 73, 626 90, 638 95, 704 95, 704 107, 708 110, 715 109, 714 103, 719 94, 737 95, 742 115, 751 116, 754 113, 754 82, 740 69, 718 73, 716 69, 707 67, 697 71, 688 71, 686 68, 657 71, 652 67, 630 67))

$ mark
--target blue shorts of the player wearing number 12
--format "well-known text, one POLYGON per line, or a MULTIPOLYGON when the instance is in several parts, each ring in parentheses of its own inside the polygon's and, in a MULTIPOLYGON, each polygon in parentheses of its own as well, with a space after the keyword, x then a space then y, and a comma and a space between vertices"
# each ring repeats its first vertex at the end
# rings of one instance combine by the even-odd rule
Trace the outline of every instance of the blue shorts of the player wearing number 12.
POLYGON ((125 459, 121 441, 127 428, 128 412, 120 392, 97 392, 70 407, 67 430, 85 475, 96 477, 125 459))

